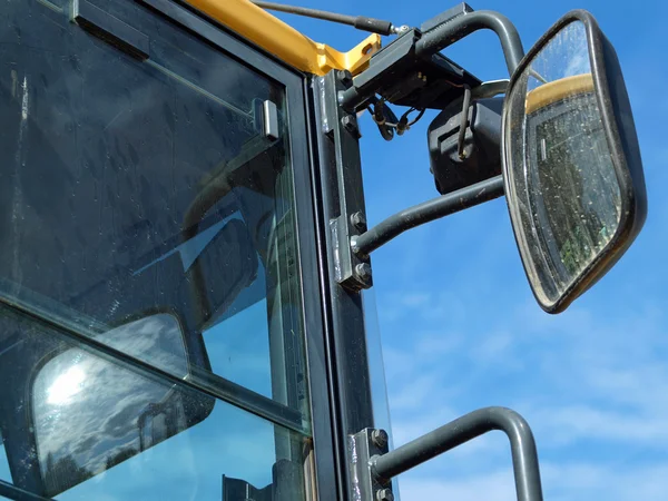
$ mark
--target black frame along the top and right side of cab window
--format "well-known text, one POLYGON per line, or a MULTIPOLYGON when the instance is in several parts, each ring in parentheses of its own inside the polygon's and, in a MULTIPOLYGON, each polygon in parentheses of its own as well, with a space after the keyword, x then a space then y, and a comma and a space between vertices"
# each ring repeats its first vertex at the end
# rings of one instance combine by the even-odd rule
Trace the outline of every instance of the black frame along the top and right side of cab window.
MULTIPOLYGON (((173 22, 188 29, 195 36, 208 41, 217 49, 285 87, 288 115, 288 134, 291 161, 293 166, 293 186, 295 200, 297 249, 297 272, 301 283, 302 322, 305 335, 305 355, 308 377, 308 396, 311 406, 313 458, 307 460, 306 482, 313 482, 313 491, 306 485, 307 500, 336 501, 348 498, 347 485, 344 485, 347 465, 346 454, 336 451, 347 443, 347 438, 336 433, 341 413, 335 410, 334 350, 332 336, 337 331, 332 324, 332 308, 341 311, 343 298, 330 296, 326 285, 330 259, 325 238, 322 234, 326 210, 322 202, 316 204, 320 194, 321 155, 315 138, 315 125, 310 117, 320 117, 320 108, 315 104, 314 86, 311 76, 288 67, 274 56, 254 47, 243 37, 198 12, 193 7, 178 0, 137 0, 153 8, 173 22), (331 302, 327 307, 325 298, 331 302), (308 472, 308 470, 311 470, 308 472), (311 478, 310 478, 311 475, 311 478)), ((358 156, 358 151, 357 151, 358 156)), ((362 314, 361 303, 353 305, 362 314)), ((345 310, 345 307, 343 308, 345 310)), ((336 316, 338 316, 337 314, 336 316)), ((365 326, 358 324, 356 334, 365 326)), ((371 407, 371 395, 365 395, 371 407)), ((373 425, 369 412, 362 412, 363 420, 373 425)))

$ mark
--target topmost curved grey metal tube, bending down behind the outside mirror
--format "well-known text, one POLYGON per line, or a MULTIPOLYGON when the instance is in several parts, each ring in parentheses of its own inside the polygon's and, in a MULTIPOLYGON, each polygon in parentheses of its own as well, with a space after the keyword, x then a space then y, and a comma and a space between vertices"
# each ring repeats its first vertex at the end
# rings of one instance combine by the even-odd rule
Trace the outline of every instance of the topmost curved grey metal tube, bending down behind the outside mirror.
POLYGON ((416 53, 430 56, 440 52, 445 47, 461 40, 474 31, 489 29, 497 33, 501 41, 501 48, 505 56, 508 71, 512 75, 524 57, 522 40, 514 24, 505 16, 491 10, 479 10, 477 12, 458 16, 436 28, 424 33, 418 42, 416 53))

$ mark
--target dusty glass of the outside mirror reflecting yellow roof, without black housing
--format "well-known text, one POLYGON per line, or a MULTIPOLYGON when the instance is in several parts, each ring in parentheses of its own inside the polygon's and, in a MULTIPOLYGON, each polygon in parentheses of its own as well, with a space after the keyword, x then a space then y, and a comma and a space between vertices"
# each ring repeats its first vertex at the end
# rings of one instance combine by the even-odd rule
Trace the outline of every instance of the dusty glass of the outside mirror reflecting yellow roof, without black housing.
POLYGON ((621 220, 581 21, 542 47, 508 99, 511 213, 534 293, 551 307, 603 252, 621 220))

